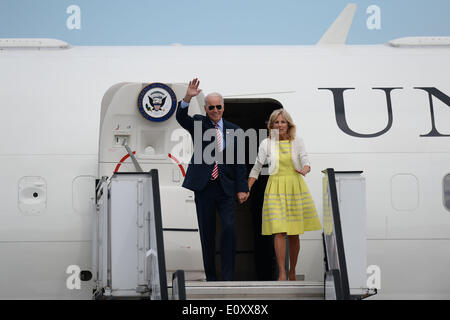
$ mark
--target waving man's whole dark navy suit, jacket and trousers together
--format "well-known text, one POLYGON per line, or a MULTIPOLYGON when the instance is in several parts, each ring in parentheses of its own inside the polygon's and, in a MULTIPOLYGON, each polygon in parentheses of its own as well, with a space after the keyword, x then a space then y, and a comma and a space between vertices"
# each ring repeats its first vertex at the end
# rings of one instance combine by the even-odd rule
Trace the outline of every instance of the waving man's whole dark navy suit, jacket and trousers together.
MULTIPOLYGON (((197 220, 200 230, 200 240, 202 243, 203 265, 205 267, 206 279, 209 281, 217 280, 215 268, 215 234, 216 234, 216 210, 222 220, 221 235, 221 265, 222 278, 224 280, 233 280, 234 259, 236 251, 236 194, 238 192, 248 192, 247 168, 245 164, 237 161, 237 137, 233 132, 240 129, 234 123, 223 120, 223 150, 222 156, 218 155, 219 178, 218 181, 211 181, 211 174, 214 168, 214 162, 206 163, 203 158, 205 149, 214 142, 203 139, 204 133, 212 129, 212 121, 200 114, 194 116, 188 115, 188 108, 181 108, 181 102, 178 106, 176 119, 178 123, 189 131, 194 142, 194 154, 186 171, 183 181, 183 187, 194 191, 195 203, 197 207, 197 220), (196 134, 196 125, 199 132, 196 134), (201 136, 200 136, 201 134, 201 136), (202 139, 199 139, 202 138, 202 139), (231 153, 229 153, 231 152, 231 153), (229 161, 227 154, 232 155, 229 161), (200 162, 196 162, 196 155, 200 162)), ((215 139, 215 137, 214 137, 215 139)), ((215 156, 212 150, 212 156, 215 156)))

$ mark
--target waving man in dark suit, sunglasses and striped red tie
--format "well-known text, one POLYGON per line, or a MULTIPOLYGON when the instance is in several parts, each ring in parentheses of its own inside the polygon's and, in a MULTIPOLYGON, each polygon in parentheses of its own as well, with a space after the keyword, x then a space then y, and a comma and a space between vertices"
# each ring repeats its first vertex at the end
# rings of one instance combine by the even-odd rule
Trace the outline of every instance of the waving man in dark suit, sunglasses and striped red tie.
POLYGON ((237 139, 233 132, 239 127, 222 119, 224 103, 220 94, 211 93, 206 96, 206 116, 188 115, 191 99, 201 92, 199 84, 198 79, 189 82, 186 95, 179 102, 176 114, 178 123, 189 131, 194 141, 194 154, 183 187, 195 193, 206 280, 217 281, 216 210, 222 221, 220 237, 222 277, 223 280, 233 280, 236 253, 236 198, 242 203, 248 197, 247 169, 245 164, 237 163, 237 139), (211 139, 203 141, 207 136, 212 137, 214 142, 211 139), (211 148, 211 143, 215 144, 214 149, 211 148), (211 151, 210 157, 205 149, 211 151), (232 159, 227 159, 227 152, 233 152, 232 159))

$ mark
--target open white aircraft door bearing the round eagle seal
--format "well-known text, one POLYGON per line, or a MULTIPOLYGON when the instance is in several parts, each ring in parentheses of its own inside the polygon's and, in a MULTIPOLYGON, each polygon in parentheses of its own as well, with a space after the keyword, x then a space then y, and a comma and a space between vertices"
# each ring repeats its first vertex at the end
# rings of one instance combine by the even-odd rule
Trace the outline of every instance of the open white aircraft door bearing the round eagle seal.
MULTIPOLYGON (((194 193, 183 188, 193 144, 175 114, 187 84, 118 83, 101 108, 99 178, 115 172, 159 173, 167 274, 183 268, 186 277, 204 278, 194 193)), ((202 113, 203 94, 189 113, 202 113)), ((94 259, 96 259, 94 257, 94 259)))

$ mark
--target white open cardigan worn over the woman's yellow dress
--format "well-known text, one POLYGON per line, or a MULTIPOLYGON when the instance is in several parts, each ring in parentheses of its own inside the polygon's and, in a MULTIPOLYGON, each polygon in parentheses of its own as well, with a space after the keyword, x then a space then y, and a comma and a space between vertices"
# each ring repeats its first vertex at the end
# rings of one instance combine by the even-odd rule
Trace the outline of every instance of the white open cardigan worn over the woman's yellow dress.
MULTIPOLYGON (((259 173, 261 172, 264 163, 269 164, 269 174, 274 172, 275 168, 278 168, 277 159, 278 155, 276 148, 276 141, 274 139, 264 139, 259 145, 258 156, 256 157, 255 164, 250 171, 250 177, 258 179, 259 173)), ((305 144, 303 140, 299 137, 291 140, 291 151, 292 151, 292 163, 294 168, 298 171, 302 170, 304 166, 310 166, 308 154, 306 153, 305 144)))

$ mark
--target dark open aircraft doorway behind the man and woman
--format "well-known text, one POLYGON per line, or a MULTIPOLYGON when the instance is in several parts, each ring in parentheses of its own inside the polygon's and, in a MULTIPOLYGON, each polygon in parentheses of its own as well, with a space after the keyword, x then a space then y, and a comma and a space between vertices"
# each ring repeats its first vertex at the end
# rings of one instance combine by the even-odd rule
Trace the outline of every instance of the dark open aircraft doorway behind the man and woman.
MULTIPOLYGON (((267 129, 270 114, 283 106, 274 99, 225 99, 224 119, 240 126, 244 131, 256 130, 258 146, 259 129, 267 129)), ((257 147, 257 146, 255 146, 257 147)), ((250 159, 249 139, 246 138, 247 177, 255 159, 250 159)), ((256 157, 256 155, 251 155, 256 157)), ((237 205, 236 233, 237 250, 235 276, 237 281, 276 280, 276 259, 272 236, 261 235, 261 212, 268 176, 260 175, 252 187, 249 199, 237 205)), ((217 217, 216 248, 220 248, 220 218, 217 217)), ((220 269, 220 253, 216 253, 216 266, 220 269)), ((218 270, 220 274, 220 270, 218 270)))

